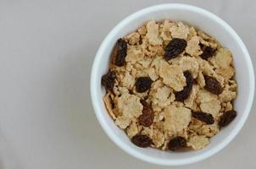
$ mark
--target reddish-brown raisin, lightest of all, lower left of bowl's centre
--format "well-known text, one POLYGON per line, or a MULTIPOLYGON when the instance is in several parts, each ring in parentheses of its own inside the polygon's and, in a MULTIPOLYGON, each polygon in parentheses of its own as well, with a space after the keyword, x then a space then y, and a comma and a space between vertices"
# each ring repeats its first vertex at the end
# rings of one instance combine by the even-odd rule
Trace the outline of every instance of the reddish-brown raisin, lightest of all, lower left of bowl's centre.
POLYGON ((138 121, 142 126, 149 127, 153 124, 153 110, 146 101, 141 101, 141 103, 143 105, 143 109, 142 115, 138 117, 138 121))

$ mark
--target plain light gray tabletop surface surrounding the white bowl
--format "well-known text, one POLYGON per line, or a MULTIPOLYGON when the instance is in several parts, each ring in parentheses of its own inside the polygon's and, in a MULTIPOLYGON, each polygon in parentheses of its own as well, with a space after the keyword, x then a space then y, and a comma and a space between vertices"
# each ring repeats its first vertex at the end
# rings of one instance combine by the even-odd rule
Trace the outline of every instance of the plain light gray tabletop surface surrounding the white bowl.
MULTIPOLYGON (((127 155, 103 133, 89 76, 114 25, 138 9, 172 2, 219 15, 242 37, 255 64, 253 0, 0 0, 0 169, 164 168, 127 155)), ((255 168, 255 118, 252 111, 225 150, 178 168, 255 168)))

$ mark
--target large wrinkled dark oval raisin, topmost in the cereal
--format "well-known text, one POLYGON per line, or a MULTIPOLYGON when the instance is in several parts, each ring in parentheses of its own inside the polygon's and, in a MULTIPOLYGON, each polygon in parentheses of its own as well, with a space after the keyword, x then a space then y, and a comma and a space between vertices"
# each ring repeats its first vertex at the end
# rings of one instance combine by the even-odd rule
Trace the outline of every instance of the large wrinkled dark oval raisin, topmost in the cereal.
POLYGON ((164 59, 169 61, 172 58, 178 57, 186 48, 186 40, 173 38, 165 47, 164 59))

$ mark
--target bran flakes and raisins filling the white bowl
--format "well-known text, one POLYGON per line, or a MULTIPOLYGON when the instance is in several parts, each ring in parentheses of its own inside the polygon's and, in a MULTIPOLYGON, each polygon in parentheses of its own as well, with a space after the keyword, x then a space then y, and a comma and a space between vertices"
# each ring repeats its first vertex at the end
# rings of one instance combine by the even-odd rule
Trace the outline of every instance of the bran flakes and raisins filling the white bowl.
POLYGON ((139 147, 199 150, 237 116, 231 52, 190 25, 150 20, 111 59, 103 101, 139 147))

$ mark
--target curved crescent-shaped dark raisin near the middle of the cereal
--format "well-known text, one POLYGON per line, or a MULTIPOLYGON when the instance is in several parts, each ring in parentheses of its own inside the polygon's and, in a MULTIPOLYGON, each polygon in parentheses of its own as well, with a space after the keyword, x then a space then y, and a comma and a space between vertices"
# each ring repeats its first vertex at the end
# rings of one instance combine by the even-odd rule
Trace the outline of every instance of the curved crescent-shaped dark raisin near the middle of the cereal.
POLYGON ((194 79, 192 78, 192 74, 190 74, 189 71, 185 71, 184 76, 186 78, 186 86, 181 91, 175 92, 175 99, 176 101, 184 101, 187 97, 191 94, 192 91, 192 85, 194 79))

